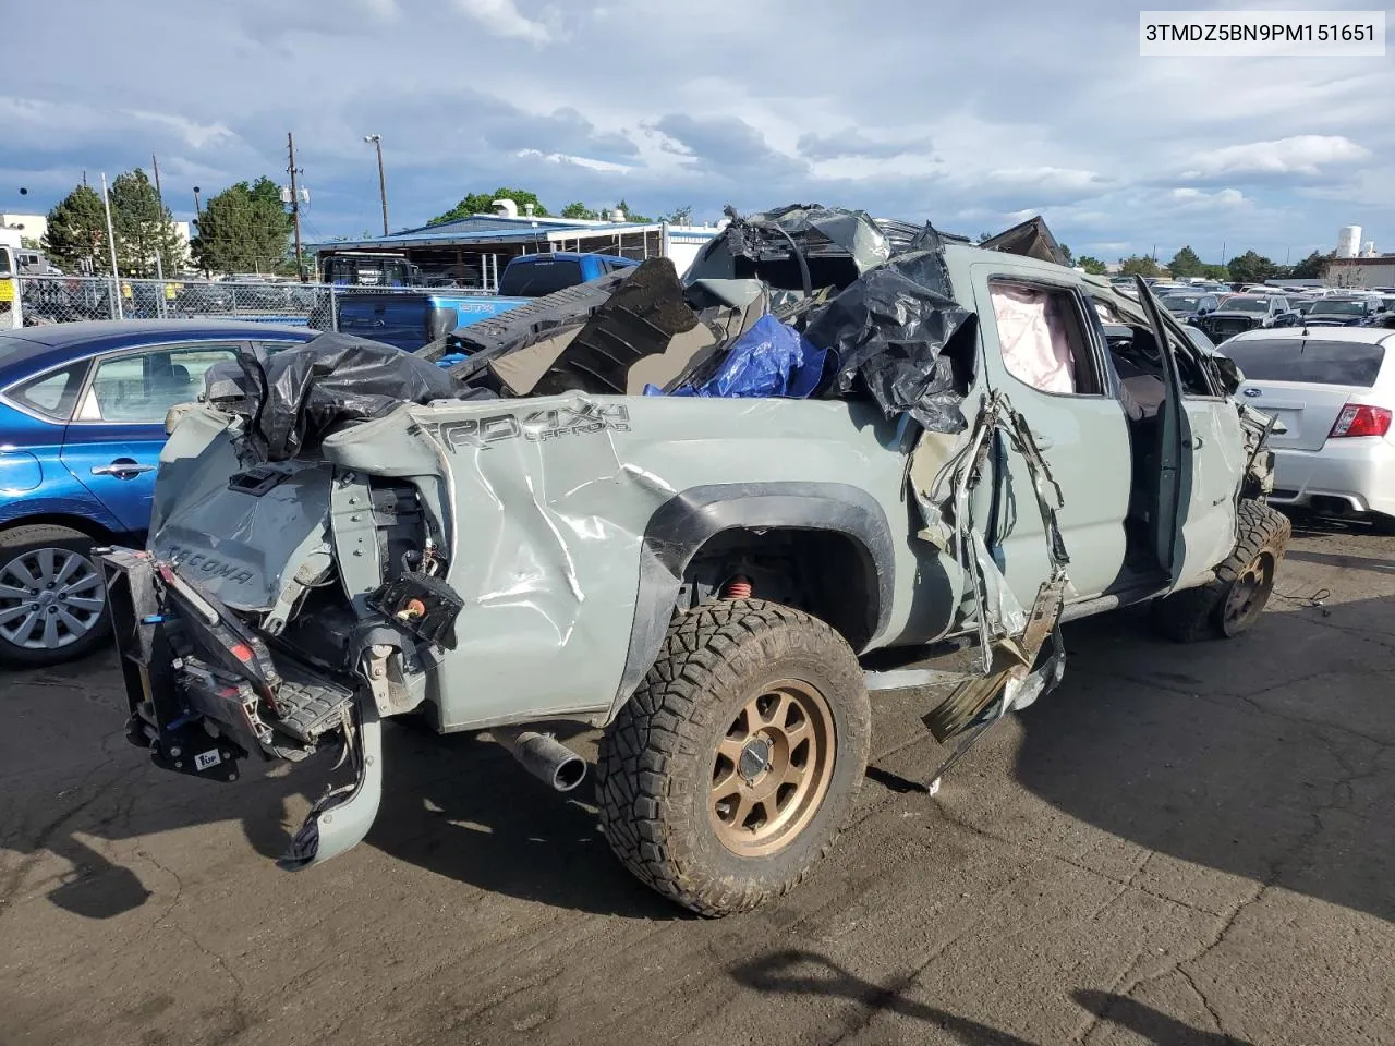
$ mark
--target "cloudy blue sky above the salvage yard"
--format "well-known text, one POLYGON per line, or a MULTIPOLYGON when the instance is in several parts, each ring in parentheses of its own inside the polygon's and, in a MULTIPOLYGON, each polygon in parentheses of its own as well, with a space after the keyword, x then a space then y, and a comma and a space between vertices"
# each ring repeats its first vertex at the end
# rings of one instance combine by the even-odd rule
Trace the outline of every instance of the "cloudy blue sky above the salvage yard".
POLYGON ((153 151, 190 218, 195 184, 285 179, 294 131, 307 237, 359 236, 381 227, 378 132, 393 229, 516 185, 967 234, 1043 213, 1106 261, 1296 261, 1349 223, 1395 250, 1395 52, 1145 59, 1117 0, 71 0, 4 25, 0 211, 153 151))

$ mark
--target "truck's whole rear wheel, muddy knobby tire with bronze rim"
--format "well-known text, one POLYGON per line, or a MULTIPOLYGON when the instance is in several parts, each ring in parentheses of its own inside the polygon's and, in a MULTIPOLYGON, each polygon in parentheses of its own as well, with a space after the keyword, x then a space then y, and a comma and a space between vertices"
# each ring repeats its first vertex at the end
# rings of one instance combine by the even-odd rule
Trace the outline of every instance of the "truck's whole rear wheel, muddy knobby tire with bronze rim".
POLYGON ((862 669, 837 632, 774 602, 699 607, 601 739, 601 827, 665 897, 709 916, 749 911, 833 845, 869 743, 862 669))

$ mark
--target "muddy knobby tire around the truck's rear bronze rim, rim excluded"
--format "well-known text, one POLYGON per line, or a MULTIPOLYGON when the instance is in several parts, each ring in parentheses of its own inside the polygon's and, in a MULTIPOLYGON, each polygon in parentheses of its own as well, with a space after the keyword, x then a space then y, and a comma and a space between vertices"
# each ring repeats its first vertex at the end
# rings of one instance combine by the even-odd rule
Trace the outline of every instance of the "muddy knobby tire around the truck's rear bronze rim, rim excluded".
POLYGON ((601 827, 621 862, 660 894, 706 916, 749 911, 792 890, 827 854, 852 812, 869 743, 862 669, 829 625, 759 600, 699 607, 674 619, 601 739, 601 827), (710 819, 717 745, 759 688, 787 679, 817 688, 831 713, 827 787, 780 849, 739 855, 710 819))

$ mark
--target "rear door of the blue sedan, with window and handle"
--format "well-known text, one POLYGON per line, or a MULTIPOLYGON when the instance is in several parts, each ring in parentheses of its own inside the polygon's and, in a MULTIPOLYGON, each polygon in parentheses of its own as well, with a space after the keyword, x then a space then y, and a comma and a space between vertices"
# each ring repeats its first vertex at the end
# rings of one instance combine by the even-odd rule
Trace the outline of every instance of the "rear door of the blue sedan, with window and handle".
POLYGON ((204 371, 237 357, 237 343, 162 344, 98 361, 63 441, 63 463, 127 531, 151 522, 165 414, 198 399, 204 371))

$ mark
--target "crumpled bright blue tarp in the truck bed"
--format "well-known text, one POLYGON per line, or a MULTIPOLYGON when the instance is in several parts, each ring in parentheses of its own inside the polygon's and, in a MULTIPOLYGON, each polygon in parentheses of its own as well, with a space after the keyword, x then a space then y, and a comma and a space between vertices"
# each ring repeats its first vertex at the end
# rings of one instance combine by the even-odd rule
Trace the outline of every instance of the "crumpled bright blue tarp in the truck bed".
MULTIPOLYGON (((783 396, 808 399, 819 388, 829 358, 804 335, 773 315, 763 315, 727 351, 717 372, 702 385, 685 385, 670 396, 756 399, 783 396)), ((644 386, 646 396, 663 396, 663 389, 644 386)))

